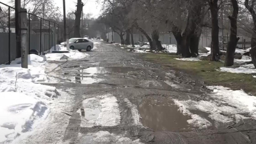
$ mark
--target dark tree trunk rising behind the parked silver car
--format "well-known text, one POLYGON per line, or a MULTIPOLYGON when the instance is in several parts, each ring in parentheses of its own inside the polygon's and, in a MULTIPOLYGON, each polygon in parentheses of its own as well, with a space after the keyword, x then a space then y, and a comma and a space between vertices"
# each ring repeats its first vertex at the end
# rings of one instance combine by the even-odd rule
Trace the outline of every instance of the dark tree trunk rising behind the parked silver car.
POLYGON ((81 13, 83 10, 84 4, 82 3, 82 0, 77 0, 77 9, 75 12, 76 20, 75 20, 75 28, 74 28, 74 37, 80 38, 80 20, 81 20, 81 13))

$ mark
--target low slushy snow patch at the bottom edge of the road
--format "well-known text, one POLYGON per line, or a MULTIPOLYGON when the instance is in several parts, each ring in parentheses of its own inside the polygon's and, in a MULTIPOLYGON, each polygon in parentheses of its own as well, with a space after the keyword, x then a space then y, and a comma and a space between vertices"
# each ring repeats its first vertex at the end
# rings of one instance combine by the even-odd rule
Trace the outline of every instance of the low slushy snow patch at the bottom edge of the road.
POLYGON ((108 131, 99 131, 88 134, 78 134, 78 143, 127 143, 127 144, 143 144, 140 139, 132 141, 130 138, 122 136, 122 134, 113 134, 108 131))

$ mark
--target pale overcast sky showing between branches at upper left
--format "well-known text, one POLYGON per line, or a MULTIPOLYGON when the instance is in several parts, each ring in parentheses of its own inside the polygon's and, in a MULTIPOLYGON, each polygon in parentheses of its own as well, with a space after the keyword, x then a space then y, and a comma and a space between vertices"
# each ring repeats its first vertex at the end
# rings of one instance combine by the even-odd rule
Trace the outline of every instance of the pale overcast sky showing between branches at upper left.
MULTIPOLYGON (((0 0, 3 3, 7 3, 10 0, 0 0)), ((53 0, 56 3, 56 6, 60 7, 61 13, 63 13, 63 0, 53 0)), ((66 12, 70 12, 72 10, 76 10, 77 0, 65 0, 66 1, 66 12)), ((84 13, 92 13, 92 17, 99 17, 100 15, 100 3, 98 0, 82 0, 85 4, 83 7, 84 13)), ((0 4, 1 5, 1 4, 0 4)))

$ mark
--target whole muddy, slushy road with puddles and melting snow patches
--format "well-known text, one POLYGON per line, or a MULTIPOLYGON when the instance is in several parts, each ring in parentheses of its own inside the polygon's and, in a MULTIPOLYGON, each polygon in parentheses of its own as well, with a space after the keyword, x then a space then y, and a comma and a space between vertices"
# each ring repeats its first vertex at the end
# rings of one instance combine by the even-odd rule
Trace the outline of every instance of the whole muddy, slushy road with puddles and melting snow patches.
POLYGON ((13 143, 256 143, 256 98, 97 42, 45 65, 51 114, 13 143))

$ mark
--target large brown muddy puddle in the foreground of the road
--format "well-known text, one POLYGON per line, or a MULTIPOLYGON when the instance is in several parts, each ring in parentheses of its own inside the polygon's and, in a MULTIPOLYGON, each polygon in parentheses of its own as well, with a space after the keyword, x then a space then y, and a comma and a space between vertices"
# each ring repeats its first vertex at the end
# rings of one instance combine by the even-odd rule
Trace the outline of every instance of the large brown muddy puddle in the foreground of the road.
POLYGON ((187 122, 191 118, 182 115, 172 100, 145 98, 138 110, 142 124, 154 131, 182 131, 192 128, 187 122))

